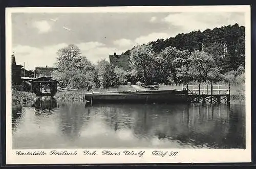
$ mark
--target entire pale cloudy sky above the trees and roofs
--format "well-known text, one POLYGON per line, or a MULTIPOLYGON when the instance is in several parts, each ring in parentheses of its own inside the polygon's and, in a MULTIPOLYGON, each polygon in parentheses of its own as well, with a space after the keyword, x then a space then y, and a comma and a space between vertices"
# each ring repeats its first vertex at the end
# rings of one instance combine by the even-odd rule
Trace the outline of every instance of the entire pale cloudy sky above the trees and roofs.
POLYGON ((239 12, 12 13, 12 52, 16 63, 53 67, 57 51, 75 44, 93 63, 109 60, 134 45, 238 23, 239 12))

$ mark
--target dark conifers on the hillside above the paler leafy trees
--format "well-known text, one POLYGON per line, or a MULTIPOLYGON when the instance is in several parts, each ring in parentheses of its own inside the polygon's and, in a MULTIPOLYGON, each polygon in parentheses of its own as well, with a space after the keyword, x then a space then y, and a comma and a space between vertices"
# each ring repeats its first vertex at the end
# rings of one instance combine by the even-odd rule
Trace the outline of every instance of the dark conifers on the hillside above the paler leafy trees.
MULTIPOLYGON (((200 30, 190 33, 178 34, 168 39, 157 39, 150 44, 156 54, 162 52, 166 47, 173 46, 178 50, 207 50, 207 52, 219 52, 214 58, 225 54, 222 69, 225 71, 237 70, 239 66, 245 67, 245 27, 237 23, 215 29, 200 30), (226 64, 228 63, 228 65, 226 64)), ((124 52, 131 54, 131 50, 124 52)), ((212 53, 211 53, 212 54, 212 53)), ((223 72, 222 72, 223 73, 223 72)))

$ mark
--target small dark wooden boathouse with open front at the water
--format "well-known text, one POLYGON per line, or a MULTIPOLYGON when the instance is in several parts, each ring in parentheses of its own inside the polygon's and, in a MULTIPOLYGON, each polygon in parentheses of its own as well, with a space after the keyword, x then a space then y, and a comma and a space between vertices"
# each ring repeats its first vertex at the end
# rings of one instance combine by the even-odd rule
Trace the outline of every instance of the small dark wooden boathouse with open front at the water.
POLYGON ((49 77, 40 77, 29 81, 29 83, 31 84, 31 92, 35 93, 36 96, 54 96, 59 82, 49 77))

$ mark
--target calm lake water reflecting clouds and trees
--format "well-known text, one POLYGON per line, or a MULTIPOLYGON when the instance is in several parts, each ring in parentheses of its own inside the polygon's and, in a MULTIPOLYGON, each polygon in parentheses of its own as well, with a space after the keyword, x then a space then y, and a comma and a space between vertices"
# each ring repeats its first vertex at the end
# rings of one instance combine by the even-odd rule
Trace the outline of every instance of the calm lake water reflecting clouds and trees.
POLYGON ((38 100, 12 107, 13 149, 245 148, 245 105, 38 100))

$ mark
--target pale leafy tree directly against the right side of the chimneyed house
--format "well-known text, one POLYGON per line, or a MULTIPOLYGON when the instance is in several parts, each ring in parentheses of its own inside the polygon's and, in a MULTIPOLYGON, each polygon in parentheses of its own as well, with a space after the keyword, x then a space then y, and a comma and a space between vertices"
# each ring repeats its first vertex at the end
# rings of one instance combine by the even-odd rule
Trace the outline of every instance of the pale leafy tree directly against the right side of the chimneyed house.
POLYGON ((143 77, 147 85, 153 77, 154 51, 151 45, 137 45, 131 51, 130 67, 132 72, 143 77))

